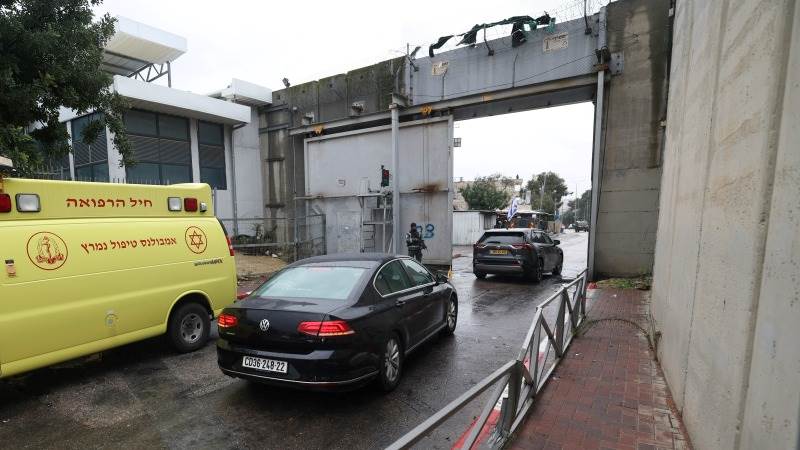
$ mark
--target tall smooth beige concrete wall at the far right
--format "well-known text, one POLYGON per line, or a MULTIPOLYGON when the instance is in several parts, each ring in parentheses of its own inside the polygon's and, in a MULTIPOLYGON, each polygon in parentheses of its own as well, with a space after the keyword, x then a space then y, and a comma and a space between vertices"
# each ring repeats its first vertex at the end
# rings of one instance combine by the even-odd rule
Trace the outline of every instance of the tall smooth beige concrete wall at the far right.
POLYGON ((698 449, 799 444, 795 3, 677 3, 652 316, 698 449))

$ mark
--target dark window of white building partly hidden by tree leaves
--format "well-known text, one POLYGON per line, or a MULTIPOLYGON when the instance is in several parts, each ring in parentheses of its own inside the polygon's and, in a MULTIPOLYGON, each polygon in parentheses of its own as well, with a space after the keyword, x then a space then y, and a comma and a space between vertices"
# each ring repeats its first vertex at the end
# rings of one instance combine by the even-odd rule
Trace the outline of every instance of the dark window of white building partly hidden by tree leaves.
POLYGON ((108 143, 106 129, 100 131, 94 142, 83 142, 84 130, 90 123, 102 120, 100 113, 88 114, 74 119, 72 125, 72 154, 75 158, 75 179, 77 181, 109 181, 108 143))

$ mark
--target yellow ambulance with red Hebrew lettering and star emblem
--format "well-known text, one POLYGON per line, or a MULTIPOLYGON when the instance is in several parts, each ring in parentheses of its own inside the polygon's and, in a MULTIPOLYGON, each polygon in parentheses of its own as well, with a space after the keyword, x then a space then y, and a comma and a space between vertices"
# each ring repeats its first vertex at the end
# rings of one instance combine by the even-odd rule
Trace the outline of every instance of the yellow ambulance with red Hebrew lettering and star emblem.
POLYGON ((206 184, 0 179, 0 378, 166 333, 208 340, 236 298, 206 184))

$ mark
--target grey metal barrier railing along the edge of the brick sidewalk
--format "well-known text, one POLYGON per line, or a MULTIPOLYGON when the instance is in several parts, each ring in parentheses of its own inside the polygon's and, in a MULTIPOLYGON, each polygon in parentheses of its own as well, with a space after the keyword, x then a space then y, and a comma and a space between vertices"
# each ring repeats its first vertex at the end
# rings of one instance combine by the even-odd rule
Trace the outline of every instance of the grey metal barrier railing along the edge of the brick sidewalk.
POLYGON ((587 269, 584 269, 574 280, 562 286, 536 307, 533 322, 516 359, 503 364, 387 449, 411 448, 492 386, 496 388, 486 401, 481 415, 473 423, 461 448, 472 449, 486 426, 492 410, 496 409, 498 401, 501 401, 500 417, 495 428, 489 433, 485 445, 490 448, 502 447, 525 419, 525 415, 534 404, 536 394, 547 383, 553 370, 564 357, 576 330, 586 318, 586 276, 587 269), (558 306, 556 316, 547 319, 545 310, 551 304, 555 304, 554 302, 557 302, 558 306), (535 357, 534 351, 536 351, 535 357))

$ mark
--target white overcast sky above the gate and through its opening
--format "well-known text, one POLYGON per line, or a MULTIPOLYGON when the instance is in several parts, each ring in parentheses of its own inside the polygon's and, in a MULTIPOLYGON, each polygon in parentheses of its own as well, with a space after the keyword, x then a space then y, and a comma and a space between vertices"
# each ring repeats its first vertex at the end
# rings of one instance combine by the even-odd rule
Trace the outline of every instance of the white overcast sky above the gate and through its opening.
MULTIPOLYGON (((172 86, 209 93, 231 78, 277 90, 283 77, 299 84, 347 72, 404 54, 406 43, 426 46, 475 23, 544 11, 558 19, 574 16, 582 5, 579 0, 105 0, 97 10, 185 37, 189 50, 172 64, 172 86)), ((460 122, 455 136, 463 138, 463 147, 456 152, 454 174, 529 178, 553 170, 570 190, 575 183, 586 189, 592 110, 584 104, 460 122)))

